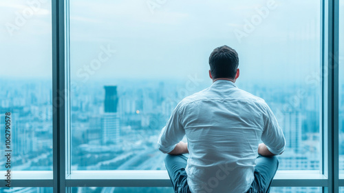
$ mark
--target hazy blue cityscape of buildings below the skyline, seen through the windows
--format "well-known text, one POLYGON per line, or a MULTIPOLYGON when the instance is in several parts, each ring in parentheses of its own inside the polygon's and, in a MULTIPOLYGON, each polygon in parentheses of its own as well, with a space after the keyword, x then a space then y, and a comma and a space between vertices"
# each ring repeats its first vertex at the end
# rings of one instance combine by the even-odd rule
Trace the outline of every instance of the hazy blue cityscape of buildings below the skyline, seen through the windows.
MULTIPOLYGON (((166 170, 157 148, 160 130, 175 105, 211 81, 106 80, 73 82, 70 88, 72 170, 166 170)), ((263 98, 286 136, 279 170, 319 170, 319 86, 248 84, 263 98), (300 94, 301 93, 301 94, 300 94)), ((52 170, 52 82, 1 80, 0 132, 12 114, 12 170, 52 170)), ((344 99, 344 85, 341 98, 344 99)), ((340 168, 344 170, 344 103, 340 103, 340 168)), ((1 137, 1 152, 5 138, 1 137)), ((0 170, 5 160, 0 159, 0 170)), ((1 173, 1 179, 3 174, 1 173)), ((272 187, 271 192, 319 192, 319 187, 272 187)), ((1 188, 0 192, 52 192, 52 188, 1 188)), ((72 192, 173 192, 172 187, 72 187, 72 192)))

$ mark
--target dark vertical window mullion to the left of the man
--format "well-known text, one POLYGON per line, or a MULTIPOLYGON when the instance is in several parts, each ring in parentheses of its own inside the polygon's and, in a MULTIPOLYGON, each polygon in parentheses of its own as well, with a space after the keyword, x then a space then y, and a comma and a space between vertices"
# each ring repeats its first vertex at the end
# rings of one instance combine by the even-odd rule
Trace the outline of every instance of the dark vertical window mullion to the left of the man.
POLYGON ((54 193, 65 192, 65 0, 52 1, 53 179, 54 193))

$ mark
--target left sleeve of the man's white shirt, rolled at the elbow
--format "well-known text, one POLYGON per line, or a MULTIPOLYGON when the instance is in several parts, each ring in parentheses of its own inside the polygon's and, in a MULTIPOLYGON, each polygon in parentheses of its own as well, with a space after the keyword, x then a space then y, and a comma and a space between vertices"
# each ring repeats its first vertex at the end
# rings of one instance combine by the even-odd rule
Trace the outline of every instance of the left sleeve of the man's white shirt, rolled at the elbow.
POLYGON ((158 140, 158 148, 163 153, 169 153, 184 137, 185 130, 180 123, 180 104, 173 110, 169 121, 162 131, 158 140))

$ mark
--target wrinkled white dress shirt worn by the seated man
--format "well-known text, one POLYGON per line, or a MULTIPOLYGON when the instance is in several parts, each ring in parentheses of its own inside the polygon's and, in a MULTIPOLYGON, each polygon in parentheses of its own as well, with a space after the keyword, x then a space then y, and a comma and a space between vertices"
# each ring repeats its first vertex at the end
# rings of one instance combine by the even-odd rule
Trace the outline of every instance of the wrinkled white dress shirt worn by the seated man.
POLYGON ((217 80, 177 105, 162 129, 159 150, 171 152, 184 135, 193 193, 247 192, 255 179, 260 140, 273 154, 281 154, 286 143, 266 102, 227 80, 217 80))

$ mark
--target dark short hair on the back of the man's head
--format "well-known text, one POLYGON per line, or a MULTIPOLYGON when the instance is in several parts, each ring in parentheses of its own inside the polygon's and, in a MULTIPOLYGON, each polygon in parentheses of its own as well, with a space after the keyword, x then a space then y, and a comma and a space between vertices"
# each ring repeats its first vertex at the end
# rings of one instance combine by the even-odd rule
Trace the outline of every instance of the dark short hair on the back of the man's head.
POLYGON ((234 79, 239 65, 239 57, 233 48, 222 45, 211 52, 209 65, 213 79, 234 79))

